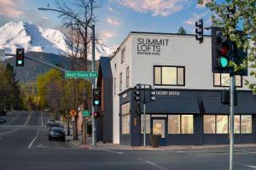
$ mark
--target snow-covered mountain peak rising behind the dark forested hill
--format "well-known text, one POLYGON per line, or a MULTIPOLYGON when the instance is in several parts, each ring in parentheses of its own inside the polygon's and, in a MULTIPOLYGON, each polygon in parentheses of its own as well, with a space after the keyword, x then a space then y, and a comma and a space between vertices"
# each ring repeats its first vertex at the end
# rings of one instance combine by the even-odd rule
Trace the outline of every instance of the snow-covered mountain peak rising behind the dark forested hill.
MULTIPOLYGON (((0 27, 0 48, 15 54, 16 48, 25 52, 45 52, 67 55, 68 38, 61 31, 43 28, 27 21, 11 21, 0 27)), ((103 44, 96 44, 96 59, 109 56, 113 50, 103 44)), ((90 56, 89 56, 90 59, 90 56)))

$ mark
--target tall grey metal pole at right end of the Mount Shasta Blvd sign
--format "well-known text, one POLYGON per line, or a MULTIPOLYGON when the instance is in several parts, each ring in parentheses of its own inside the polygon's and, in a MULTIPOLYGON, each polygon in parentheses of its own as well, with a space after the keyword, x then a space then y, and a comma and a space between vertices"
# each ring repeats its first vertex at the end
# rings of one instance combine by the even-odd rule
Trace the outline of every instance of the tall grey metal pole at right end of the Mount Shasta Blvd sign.
MULTIPOLYGON (((91 71, 95 71, 95 26, 92 25, 91 26, 91 30, 92 30, 92 55, 91 55, 91 71)), ((92 90, 93 88, 96 87, 96 79, 93 79, 92 83, 91 83, 91 94, 92 94, 92 90)), ((92 119, 92 140, 91 140, 91 145, 95 146, 96 145, 96 120, 94 117, 94 111, 95 108, 92 105, 91 108, 91 119, 92 119)))

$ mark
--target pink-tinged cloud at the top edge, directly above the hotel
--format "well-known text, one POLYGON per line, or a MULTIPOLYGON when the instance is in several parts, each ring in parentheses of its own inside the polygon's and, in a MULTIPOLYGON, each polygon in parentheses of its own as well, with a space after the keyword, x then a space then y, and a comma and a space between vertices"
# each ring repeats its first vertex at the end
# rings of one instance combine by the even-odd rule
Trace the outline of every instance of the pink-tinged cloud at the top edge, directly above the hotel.
POLYGON ((132 8, 141 13, 151 12, 153 16, 167 16, 184 8, 184 2, 188 0, 115 0, 122 6, 132 8))

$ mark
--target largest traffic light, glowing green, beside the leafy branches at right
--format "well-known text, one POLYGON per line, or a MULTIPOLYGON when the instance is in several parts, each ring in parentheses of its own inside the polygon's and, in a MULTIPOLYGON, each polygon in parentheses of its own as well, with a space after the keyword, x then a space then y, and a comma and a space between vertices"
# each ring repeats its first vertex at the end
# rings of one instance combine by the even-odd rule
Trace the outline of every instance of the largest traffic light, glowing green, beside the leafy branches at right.
POLYGON ((229 62, 232 59, 232 42, 224 36, 221 28, 212 27, 212 72, 230 73, 229 62))

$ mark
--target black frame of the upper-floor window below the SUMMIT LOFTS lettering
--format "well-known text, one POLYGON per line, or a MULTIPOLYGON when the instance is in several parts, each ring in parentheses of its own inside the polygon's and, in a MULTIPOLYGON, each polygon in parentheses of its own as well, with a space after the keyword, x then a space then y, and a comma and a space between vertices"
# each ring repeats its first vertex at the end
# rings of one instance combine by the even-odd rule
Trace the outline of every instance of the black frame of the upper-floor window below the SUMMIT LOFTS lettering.
MULTIPOLYGON (((186 86, 186 79, 185 79, 185 73, 186 73, 186 70, 185 70, 185 66, 180 66, 180 65, 154 65, 153 66, 153 82, 154 82, 154 85, 155 86, 186 86), (155 83, 155 68, 156 67, 160 67, 160 84, 158 83, 155 83), (177 77, 177 69, 178 68, 182 68, 183 69, 183 84, 163 84, 163 78, 162 78, 162 75, 163 75, 163 71, 162 71, 162 68, 163 67, 174 67, 176 68, 176 77, 177 77)), ((176 81, 178 82, 178 79, 176 79, 176 81)))

